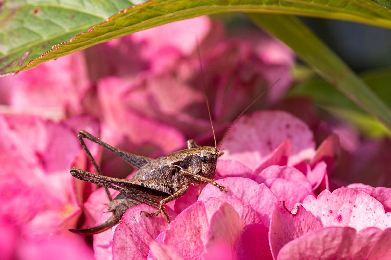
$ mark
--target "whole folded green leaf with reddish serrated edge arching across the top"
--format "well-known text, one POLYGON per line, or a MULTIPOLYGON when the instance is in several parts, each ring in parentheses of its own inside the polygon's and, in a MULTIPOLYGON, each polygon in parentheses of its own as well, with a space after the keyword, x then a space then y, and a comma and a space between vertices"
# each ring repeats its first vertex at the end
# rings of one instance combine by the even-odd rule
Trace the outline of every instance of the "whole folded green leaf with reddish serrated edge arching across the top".
POLYGON ((133 32, 216 12, 297 14, 391 28, 391 11, 370 0, 150 0, 118 12, 131 4, 126 0, 6 2, 0 10, 0 74, 17 73, 133 32), (106 22, 39 57, 48 46, 70 39, 110 14, 114 15, 106 22), (27 63, 33 58, 37 59, 27 63))

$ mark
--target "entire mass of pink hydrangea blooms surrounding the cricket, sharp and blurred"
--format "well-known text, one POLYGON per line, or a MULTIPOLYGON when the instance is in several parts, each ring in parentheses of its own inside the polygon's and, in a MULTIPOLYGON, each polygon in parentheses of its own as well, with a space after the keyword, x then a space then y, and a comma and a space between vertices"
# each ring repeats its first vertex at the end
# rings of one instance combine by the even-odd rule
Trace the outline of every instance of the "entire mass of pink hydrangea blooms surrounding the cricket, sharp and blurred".
MULTIPOLYGON (((367 165, 387 144, 361 142, 343 124, 312 124, 302 104, 260 110, 291 102, 283 94, 292 51, 262 32, 227 39, 224 30, 208 17, 174 22, 0 79, 1 259, 389 259, 391 190, 350 184, 368 180, 367 165), (226 136, 215 179, 227 193, 190 187, 166 205, 170 225, 140 215, 154 211, 149 205, 132 207, 94 235, 92 250, 68 229, 111 213, 103 189, 69 173, 94 172, 77 132, 149 157, 184 149, 190 138, 211 145, 197 41, 219 139, 281 78, 226 136), (369 159, 347 176, 336 169, 364 150, 369 159)), ((131 176, 119 157, 86 144, 105 175, 131 176)))

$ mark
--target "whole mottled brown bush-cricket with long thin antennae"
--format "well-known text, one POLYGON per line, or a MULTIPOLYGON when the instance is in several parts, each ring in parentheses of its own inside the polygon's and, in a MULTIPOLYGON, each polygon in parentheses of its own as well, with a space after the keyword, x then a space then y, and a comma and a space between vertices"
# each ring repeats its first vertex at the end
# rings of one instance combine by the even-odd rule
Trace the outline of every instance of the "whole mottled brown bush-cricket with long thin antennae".
MULTIPOLYGON (((204 82, 200 55, 199 61, 201 67, 201 76, 204 82)), ((277 81, 274 84, 276 84, 277 81)), ((273 87, 273 85, 271 85, 271 87, 273 87)), ((269 90, 271 87, 269 87, 267 90, 269 90)), ((267 92, 267 90, 265 90, 265 92, 267 92)), ((208 106, 210 122, 212 124, 208 97, 206 96, 205 83, 204 92, 206 97, 206 104, 208 106)), ((265 94, 265 92, 262 93, 262 95, 265 94)), ((253 103, 255 103, 255 101, 258 100, 262 95, 256 98, 253 103)), ((253 103, 251 103, 239 115, 239 117, 253 103)), ((237 117, 237 119, 239 119, 239 117, 237 117)), ((236 122, 236 120, 233 122, 233 124, 236 122)), ((231 127, 233 126, 233 124, 231 125, 231 127)), ((228 129, 228 131, 231 129, 231 127, 228 129)), ((107 143, 102 142, 101 140, 99 140, 99 138, 92 136, 84 130, 79 131, 78 138, 84 151, 86 152, 88 158, 91 160, 98 174, 86 172, 75 167, 72 167, 70 169, 70 172, 72 173, 72 176, 77 179, 104 186, 104 188, 106 189, 106 194, 108 195, 110 200, 107 212, 113 212, 113 214, 109 219, 107 219, 100 225, 85 229, 70 229, 71 232, 82 235, 93 235, 96 233, 103 232, 108 228, 111 228, 112 226, 116 225, 127 209, 142 203, 147 203, 153 207, 156 207, 158 210, 156 210, 155 212, 141 211, 140 213, 144 213, 147 217, 158 216, 159 213, 162 213, 165 219, 167 219, 167 221, 170 223, 170 218, 165 210, 164 204, 183 196, 188 191, 190 185, 201 185, 203 183, 210 183, 220 189, 220 191, 226 192, 225 187, 220 186, 213 180, 213 177, 215 175, 217 158, 219 157, 216 138, 214 138, 215 147, 201 147, 194 140, 188 140, 187 149, 173 152, 167 156, 159 157, 157 159, 151 159, 148 157, 130 154, 128 152, 125 152, 111 145, 108 145, 107 143), (138 169, 138 171, 133 175, 132 179, 130 180, 103 176, 98 164, 91 156, 90 151, 84 143, 83 138, 87 138, 88 140, 91 140, 101 145, 102 147, 111 150, 118 156, 122 157, 122 159, 133 165, 136 169, 138 169), (120 194, 118 194, 117 197, 112 199, 108 188, 119 191, 120 194)), ((224 141, 224 138, 222 141, 224 141)))

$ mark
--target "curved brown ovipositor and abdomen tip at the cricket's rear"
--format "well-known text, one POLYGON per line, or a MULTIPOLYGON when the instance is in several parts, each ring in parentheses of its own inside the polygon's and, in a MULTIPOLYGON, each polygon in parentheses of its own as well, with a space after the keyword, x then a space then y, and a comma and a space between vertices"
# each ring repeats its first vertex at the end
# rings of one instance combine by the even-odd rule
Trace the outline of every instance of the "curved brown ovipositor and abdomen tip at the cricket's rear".
POLYGON ((69 231, 79 235, 95 235, 97 233, 104 232, 117 225, 127 209, 141 203, 142 202, 120 193, 109 203, 109 207, 106 212, 113 212, 113 214, 102 224, 90 228, 70 229, 69 231))

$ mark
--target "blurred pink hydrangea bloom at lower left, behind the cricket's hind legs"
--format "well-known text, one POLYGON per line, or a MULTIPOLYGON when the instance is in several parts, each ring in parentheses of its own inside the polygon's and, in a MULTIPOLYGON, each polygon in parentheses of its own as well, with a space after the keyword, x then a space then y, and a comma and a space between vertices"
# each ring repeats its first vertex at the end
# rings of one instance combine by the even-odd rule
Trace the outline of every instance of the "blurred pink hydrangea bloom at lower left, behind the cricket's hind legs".
MULTIPOLYGON (((83 239, 68 232, 77 227, 83 202, 69 174, 76 158, 83 161, 73 127, 93 132, 97 125, 90 119, 54 123, 38 116, 0 115, 0 219, 2 240, 9 238, 0 250, 2 259, 92 259, 83 239)), ((97 147, 90 147, 96 155, 97 147)))

